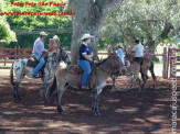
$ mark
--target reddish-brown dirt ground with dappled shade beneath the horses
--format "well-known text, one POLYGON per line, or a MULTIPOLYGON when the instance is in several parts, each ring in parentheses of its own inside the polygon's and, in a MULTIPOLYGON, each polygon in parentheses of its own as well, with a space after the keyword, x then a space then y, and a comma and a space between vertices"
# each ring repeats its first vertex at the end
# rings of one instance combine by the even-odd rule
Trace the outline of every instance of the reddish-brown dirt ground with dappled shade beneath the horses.
MULTIPOLYGON (((64 114, 56 111, 55 97, 50 104, 39 104, 40 80, 25 78, 20 86, 24 102, 15 102, 9 76, 0 77, 0 133, 110 133, 110 134, 170 134, 171 133, 171 81, 158 78, 153 90, 151 78, 138 93, 137 85, 126 92, 109 92, 112 81, 100 94, 102 116, 91 112, 92 92, 71 89, 64 93, 64 114)), ((116 82, 123 90, 127 78, 116 82)), ((178 87, 179 88, 179 87, 178 87)), ((178 112, 179 118, 179 112, 178 112)), ((180 119, 178 119, 178 124, 180 119)), ((180 127, 177 129, 180 133, 180 127)))

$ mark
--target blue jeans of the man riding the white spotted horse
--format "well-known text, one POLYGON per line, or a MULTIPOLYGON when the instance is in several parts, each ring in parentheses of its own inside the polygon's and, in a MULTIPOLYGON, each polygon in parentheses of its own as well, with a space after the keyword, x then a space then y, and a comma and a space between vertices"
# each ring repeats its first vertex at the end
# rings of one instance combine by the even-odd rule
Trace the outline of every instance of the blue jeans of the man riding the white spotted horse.
POLYGON ((41 57, 39 54, 34 54, 34 57, 40 62, 36 67, 34 68, 33 75, 38 75, 39 70, 42 68, 44 65, 45 60, 44 57, 41 57), (41 58, 40 58, 41 57, 41 58))

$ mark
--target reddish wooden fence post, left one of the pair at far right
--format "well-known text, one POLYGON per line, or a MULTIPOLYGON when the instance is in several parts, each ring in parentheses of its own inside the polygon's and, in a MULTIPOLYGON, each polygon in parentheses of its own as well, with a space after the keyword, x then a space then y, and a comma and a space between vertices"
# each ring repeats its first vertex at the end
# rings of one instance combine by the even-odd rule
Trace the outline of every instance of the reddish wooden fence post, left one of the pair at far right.
POLYGON ((163 47, 163 56, 162 56, 163 69, 162 69, 162 78, 168 78, 168 57, 167 57, 167 47, 163 47))

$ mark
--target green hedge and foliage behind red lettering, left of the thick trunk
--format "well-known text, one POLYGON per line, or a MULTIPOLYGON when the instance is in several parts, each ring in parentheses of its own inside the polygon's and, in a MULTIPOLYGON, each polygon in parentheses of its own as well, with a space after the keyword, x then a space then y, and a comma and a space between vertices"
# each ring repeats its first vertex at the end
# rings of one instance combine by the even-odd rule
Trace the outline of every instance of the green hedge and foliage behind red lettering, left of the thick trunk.
MULTIPOLYGON (((31 7, 31 5, 23 5, 23 7, 17 7, 17 5, 12 5, 11 7, 11 2, 12 0, 6 0, 6 11, 7 12, 53 12, 53 11, 63 11, 64 7, 50 7, 50 5, 35 5, 35 7, 31 7)), ((25 3, 27 1, 24 0, 15 0, 15 2, 23 2, 25 3)), ((52 0, 41 0, 41 1, 45 1, 45 2, 50 2, 52 0)), ((66 0, 53 0, 54 2, 61 2, 64 1, 66 2, 66 0)), ((29 2, 36 2, 39 3, 40 0, 31 0, 29 2)), ((53 15, 49 15, 49 16, 44 16, 44 15, 40 15, 40 16, 34 16, 34 15, 8 15, 7 20, 11 26, 12 30, 38 30, 38 29, 64 29, 64 27, 72 27, 72 18, 67 16, 67 15, 59 15, 59 16, 53 16, 53 15)), ((47 47, 49 44, 49 38, 53 37, 54 34, 56 33, 50 33, 49 32, 49 36, 46 37, 45 41, 45 45, 47 47)), ((29 47, 31 48, 33 46, 34 41, 36 40, 39 35, 17 35, 17 40, 18 42, 12 42, 10 44, 7 45, 7 47, 14 47, 14 46, 21 46, 21 47, 29 47)), ((71 37, 72 34, 60 34, 59 35, 61 38, 61 44, 67 46, 70 48, 71 45, 71 37)))

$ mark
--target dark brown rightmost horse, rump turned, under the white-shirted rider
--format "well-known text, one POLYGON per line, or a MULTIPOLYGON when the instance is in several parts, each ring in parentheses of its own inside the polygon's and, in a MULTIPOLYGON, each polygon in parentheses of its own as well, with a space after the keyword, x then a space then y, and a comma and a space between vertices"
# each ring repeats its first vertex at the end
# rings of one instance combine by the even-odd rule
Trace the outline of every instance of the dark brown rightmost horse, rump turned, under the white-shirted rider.
MULTIPOLYGON (((129 54, 126 53, 125 59, 131 63, 133 62, 131 53, 129 53, 129 54)), ((144 81, 142 82, 142 89, 144 89, 144 87, 145 87, 145 85, 147 82, 147 79, 148 79, 148 75, 147 75, 148 70, 150 71, 151 77, 153 79, 153 82, 152 82, 153 87, 152 88, 155 89, 155 87, 156 87, 156 76, 155 76, 155 71, 153 71, 153 62, 148 57, 141 57, 140 59, 141 60, 137 62, 137 63, 140 65, 140 74, 141 74, 141 78, 142 78, 142 81, 144 81)))

